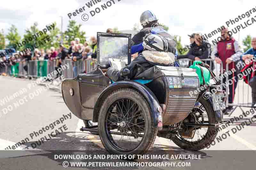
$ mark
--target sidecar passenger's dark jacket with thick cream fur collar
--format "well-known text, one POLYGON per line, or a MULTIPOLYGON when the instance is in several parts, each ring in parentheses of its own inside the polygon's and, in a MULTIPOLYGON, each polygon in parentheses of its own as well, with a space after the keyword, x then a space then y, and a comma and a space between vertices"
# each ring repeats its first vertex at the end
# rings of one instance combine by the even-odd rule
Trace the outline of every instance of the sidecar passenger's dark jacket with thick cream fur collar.
MULTIPOLYGON (((159 66, 173 66, 175 61, 174 54, 170 52, 159 52, 159 51, 143 51, 138 57, 136 57, 132 62, 126 67, 122 68, 121 71, 125 68, 130 70, 130 79, 138 79, 144 71, 149 68, 159 65, 159 66)), ((114 82, 124 80, 120 75, 120 71, 112 67, 108 68, 107 71, 108 77, 114 82)), ((147 79, 147 76, 145 76, 147 79)), ((150 76, 149 76, 150 77, 150 76)))

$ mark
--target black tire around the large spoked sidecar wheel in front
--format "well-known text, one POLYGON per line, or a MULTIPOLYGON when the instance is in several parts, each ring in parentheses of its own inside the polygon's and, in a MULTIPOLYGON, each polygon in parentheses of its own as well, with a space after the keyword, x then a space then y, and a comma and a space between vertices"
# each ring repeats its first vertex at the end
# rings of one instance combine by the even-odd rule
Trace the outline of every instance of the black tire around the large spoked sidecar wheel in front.
MULTIPOLYGON (((129 102, 129 105, 130 105, 130 102, 129 102)), ((122 103, 122 109, 123 109, 123 103, 122 103)), ((120 111, 120 110, 118 110, 118 111, 120 111)), ((124 115, 123 111, 120 111, 120 112, 122 112, 122 114, 124 115)), ((127 111, 127 112, 128 112, 128 115, 129 115, 129 111, 127 111)), ((117 113, 117 112, 115 112, 115 113, 117 113)), ((133 115, 133 113, 132 113, 132 115, 133 115)), ((121 115, 121 117, 122 117, 122 115, 121 115)), ((126 117, 124 116, 124 118, 126 118, 126 117)), ((120 122, 123 121, 123 120, 120 120, 120 122)), ((139 118, 137 118, 136 121, 137 120, 139 120, 139 118)), ((131 118, 131 121, 134 121, 134 119, 131 118)), ((111 124, 115 125, 115 123, 112 123, 112 122, 111 122, 111 124)), ((121 123, 118 125, 120 127, 120 129, 121 129, 121 130, 119 130, 120 132, 122 131, 122 127, 121 127, 122 125, 121 125, 121 123)), ((152 145, 154 144, 155 139, 156 139, 156 135, 157 135, 157 129, 154 129, 152 125, 153 125, 153 120, 152 120, 150 108, 148 107, 147 100, 139 92, 137 92, 136 90, 133 90, 133 89, 130 89, 130 88, 118 89, 118 90, 112 92, 106 98, 106 100, 104 101, 104 103, 101 106, 100 115, 99 115, 99 119, 98 119, 98 127, 99 127, 99 133, 100 133, 100 140, 101 140, 103 146, 105 147, 105 149, 110 154, 120 154, 120 155, 132 154, 132 155, 137 155, 137 154, 146 153, 152 147, 152 145), (142 139, 141 139, 140 143, 138 144, 138 146, 135 147, 134 149, 130 149, 130 150, 120 149, 121 147, 116 145, 116 142, 115 142, 115 137, 116 136, 114 136, 114 138, 112 137, 111 132, 113 132, 113 131, 108 130, 110 126, 108 126, 108 123, 106 123, 109 120, 108 118, 111 118, 111 116, 109 116, 109 115, 114 113, 113 112, 114 108, 118 107, 116 103, 119 103, 120 101, 124 102, 124 100, 127 100, 127 103, 128 103, 128 101, 133 101, 133 103, 135 105, 137 104, 138 108, 139 107, 141 108, 140 111, 137 111, 137 113, 140 113, 140 115, 143 115, 143 117, 144 117, 142 119, 143 122, 139 122, 139 123, 143 123, 143 127, 144 127, 143 128, 144 129, 143 130, 143 137, 141 137, 142 139), (112 110, 111 110, 111 108, 112 108, 112 110)), ((125 126, 128 126, 128 123, 125 126)), ((133 126, 133 127, 136 127, 136 126, 133 126)), ((129 134, 128 131, 127 131, 127 134, 129 134)), ((131 129, 131 133, 130 134, 132 134, 132 129, 131 129)), ((118 136, 120 137, 120 135, 118 135, 118 136)), ((125 137, 127 137, 127 136, 125 136, 125 137)), ((130 135, 130 138, 132 138, 131 135, 130 135)), ((122 137, 121 137, 121 139, 122 139, 122 137)), ((120 139, 120 141, 121 141, 121 139, 120 139)), ((124 141, 124 142, 127 142, 127 141, 124 141)), ((127 144, 125 144, 125 147, 132 147, 134 145, 133 142, 134 141, 127 142, 127 144), (131 145, 131 146, 127 146, 127 145, 131 145)), ((124 146, 124 144, 122 145, 122 147, 123 146, 124 146)), ((137 158, 134 158, 134 159, 137 159, 137 158)))

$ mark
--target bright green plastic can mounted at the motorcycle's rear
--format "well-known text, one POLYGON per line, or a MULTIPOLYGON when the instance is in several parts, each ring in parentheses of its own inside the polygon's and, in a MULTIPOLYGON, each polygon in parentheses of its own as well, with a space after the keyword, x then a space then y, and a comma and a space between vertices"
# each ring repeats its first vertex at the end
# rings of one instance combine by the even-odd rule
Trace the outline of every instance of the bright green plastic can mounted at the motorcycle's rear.
POLYGON ((196 73, 197 73, 199 81, 200 81, 200 85, 203 85, 204 81, 205 81, 205 83, 207 85, 209 85, 210 84, 209 81, 210 81, 210 78, 211 78, 211 74, 210 74, 210 71, 207 68, 202 67, 203 74, 204 74, 204 81, 203 81, 202 72, 201 72, 201 69, 200 69, 200 67, 198 65, 198 64, 202 64, 202 63, 203 62, 201 62, 201 61, 194 61, 193 65, 191 65, 189 68, 196 70, 196 73))

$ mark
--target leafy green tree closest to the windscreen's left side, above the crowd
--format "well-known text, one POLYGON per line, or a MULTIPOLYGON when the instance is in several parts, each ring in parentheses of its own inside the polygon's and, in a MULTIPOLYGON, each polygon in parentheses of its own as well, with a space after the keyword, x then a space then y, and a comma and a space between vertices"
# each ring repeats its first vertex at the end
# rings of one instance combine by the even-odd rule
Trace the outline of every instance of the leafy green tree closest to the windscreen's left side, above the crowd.
POLYGON ((84 43, 85 39, 85 32, 81 31, 81 24, 77 25, 76 21, 69 20, 68 29, 63 33, 63 36, 66 37, 65 43, 70 44, 75 38, 80 39, 80 43, 84 43))

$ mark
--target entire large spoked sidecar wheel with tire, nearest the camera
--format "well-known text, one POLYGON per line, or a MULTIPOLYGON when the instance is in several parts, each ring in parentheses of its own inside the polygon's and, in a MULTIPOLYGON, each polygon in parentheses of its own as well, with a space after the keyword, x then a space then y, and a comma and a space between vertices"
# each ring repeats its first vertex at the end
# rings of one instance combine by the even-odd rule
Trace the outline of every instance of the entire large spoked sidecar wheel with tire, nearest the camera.
POLYGON ((157 134, 147 100, 129 88, 118 89, 106 98, 98 127, 100 140, 110 154, 143 154, 152 147, 157 134))

